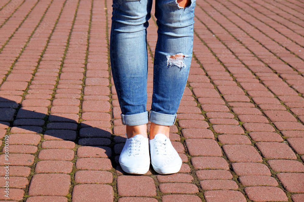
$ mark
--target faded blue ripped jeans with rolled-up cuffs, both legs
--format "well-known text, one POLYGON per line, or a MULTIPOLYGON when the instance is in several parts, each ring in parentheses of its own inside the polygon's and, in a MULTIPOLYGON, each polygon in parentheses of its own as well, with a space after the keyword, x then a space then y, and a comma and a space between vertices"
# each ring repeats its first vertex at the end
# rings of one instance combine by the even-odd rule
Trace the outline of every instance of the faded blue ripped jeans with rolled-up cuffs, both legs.
POLYGON ((175 123, 188 79, 195 0, 185 8, 176 0, 156 0, 157 44, 153 68, 153 96, 147 104, 147 27, 152 0, 113 0, 110 59, 124 125, 175 123), (182 57, 175 58, 174 55, 182 57))

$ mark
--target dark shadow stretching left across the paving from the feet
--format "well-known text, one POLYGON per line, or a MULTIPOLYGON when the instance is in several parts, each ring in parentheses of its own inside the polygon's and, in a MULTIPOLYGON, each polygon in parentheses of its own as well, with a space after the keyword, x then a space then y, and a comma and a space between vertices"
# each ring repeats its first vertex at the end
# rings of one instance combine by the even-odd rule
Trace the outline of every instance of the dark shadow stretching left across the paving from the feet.
MULTIPOLYGON (((80 146, 100 147, 112 161, 114 158, 111 158, 111 147, 114 148, 113 154, 119 155, 126 141, 126 137, 112 135, 110 128, 78 123, 74 119, 65 118, 64 114, 56 116, 48 115, 47 111, 40 113, 37 111, 45 107, 21 107, 15 101, 4 97, 0 96, 0 128, 11 127, 9 134, 43 134, 45 140, 66 140, 80 146), (116 145, 113 147, 114 143, 116 145)), ((0 134, 0 138, 5 135, 0 134)), ((114 161, 117 161, 118 157, 116 156, 114 161)))

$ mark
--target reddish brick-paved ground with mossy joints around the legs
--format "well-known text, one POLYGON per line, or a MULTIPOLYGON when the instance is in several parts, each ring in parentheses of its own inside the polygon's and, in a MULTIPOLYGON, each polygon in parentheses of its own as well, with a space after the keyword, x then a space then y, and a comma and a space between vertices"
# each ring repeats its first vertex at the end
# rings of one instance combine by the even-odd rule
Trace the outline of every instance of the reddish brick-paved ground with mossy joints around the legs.
MULTIPOLYGON (((303 202, 304 2, 197 1, 170 134, 184 164, 165 176, 126 175, 117 162, 125 126, 110 75, 111 8, 1 0, 0 184, 9 197, 0 188, 0 200, 303 202)), ((147 109, 156 29, 153 18, 147 109)))

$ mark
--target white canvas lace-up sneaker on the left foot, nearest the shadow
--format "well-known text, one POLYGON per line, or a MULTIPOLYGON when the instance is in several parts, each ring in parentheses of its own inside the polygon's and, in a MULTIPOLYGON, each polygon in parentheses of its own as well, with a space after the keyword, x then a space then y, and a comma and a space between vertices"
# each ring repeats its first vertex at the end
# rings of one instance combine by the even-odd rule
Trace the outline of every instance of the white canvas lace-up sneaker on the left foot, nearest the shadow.
POLYGON ((145 174, 150 167, 148 138, 135 135, 126 140, 119 156, 119 164, 129 174, 145 174))

